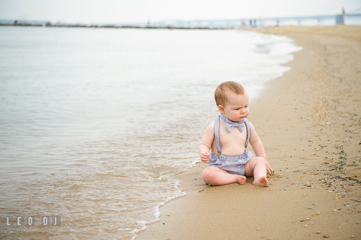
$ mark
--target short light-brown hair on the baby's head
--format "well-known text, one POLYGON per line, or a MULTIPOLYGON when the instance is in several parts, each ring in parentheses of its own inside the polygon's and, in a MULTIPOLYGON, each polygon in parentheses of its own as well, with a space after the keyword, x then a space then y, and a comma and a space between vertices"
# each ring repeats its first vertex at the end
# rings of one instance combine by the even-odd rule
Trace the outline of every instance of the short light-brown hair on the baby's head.
POLYGON ((235 93, 237 95, 244 95, 244 88, 242 87, 241 84, 233 82, 233 81, 228 81, 228 82, 224 82, 221 83, 215 91, 215 99, 216 99, 216 104, 217 106, 222 105, 225 106, 226 102, 227 102, 227 94, 229 92, 231 93, 235 93))

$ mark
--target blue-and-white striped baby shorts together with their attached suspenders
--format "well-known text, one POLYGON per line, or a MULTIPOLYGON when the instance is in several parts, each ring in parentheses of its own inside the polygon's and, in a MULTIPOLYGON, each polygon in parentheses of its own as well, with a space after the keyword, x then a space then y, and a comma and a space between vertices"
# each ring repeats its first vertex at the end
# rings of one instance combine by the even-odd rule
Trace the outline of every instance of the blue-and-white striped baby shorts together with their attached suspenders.
POLYGON ((219 137, 220 118, 222 118, 222 120, 226 122, 226 117, 223 116, 223 114, 220 114, 215 119, 215 139, 216 139, 218 153, 211 151, 210 162, 208 163, 208 166, 209 167, 216 166, 218 168, 227 170, 230 174, 237 174, 244 176, 245 175, 244 164, 246 164, 249 161, 249 159, 253 157, 253 153, 247 150, 248 140, 251 135, 251 126, 249 124, 249 121, 246 118, 244 119, 244 123, 247 129, 247 140, 245 144, 244 153, 239 156, 225 156, 221 154, 222 146, 219 137))

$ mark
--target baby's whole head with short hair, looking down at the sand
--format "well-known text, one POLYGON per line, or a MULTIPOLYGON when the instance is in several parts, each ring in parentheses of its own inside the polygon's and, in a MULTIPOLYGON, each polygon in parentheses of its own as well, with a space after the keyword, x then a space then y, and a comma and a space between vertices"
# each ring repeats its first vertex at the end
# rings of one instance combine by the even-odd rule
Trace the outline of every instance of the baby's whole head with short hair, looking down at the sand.
POLYGON ((242 121, 249 114, 248 94, 241 84, 221 83, 215 91, 219 111, 232 121, 242 121))

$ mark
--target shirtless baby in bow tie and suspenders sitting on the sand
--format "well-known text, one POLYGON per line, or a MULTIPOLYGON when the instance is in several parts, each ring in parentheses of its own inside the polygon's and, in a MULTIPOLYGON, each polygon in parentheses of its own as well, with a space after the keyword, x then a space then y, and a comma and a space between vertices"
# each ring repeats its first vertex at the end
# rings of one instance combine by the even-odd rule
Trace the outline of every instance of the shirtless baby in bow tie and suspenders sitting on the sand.
POLYGON ((245 184, 246 176, 254 176, 253 184, 268 186, 267 171, 273 169, 253 125, 246 119, 246 90, 239 83, 224 82, 217 87, 215 99, 221 113, 206 128, 199 146, 202 161, 209 165, 202 172, 203 180, 211 185, 245 184), (248 142, 256 157, 247 150, 248 142))

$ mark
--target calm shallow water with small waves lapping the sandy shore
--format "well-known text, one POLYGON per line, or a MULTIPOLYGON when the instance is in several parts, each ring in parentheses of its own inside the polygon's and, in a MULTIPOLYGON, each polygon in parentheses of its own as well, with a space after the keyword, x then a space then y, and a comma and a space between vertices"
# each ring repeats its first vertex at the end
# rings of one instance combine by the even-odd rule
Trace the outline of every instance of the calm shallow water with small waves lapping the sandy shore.
POLYGON ((297 50, 240 31, 1 27, 0 237, 134 238, 186 194, 176 174, 200 161, 216 87, 255 97, 297 50))

